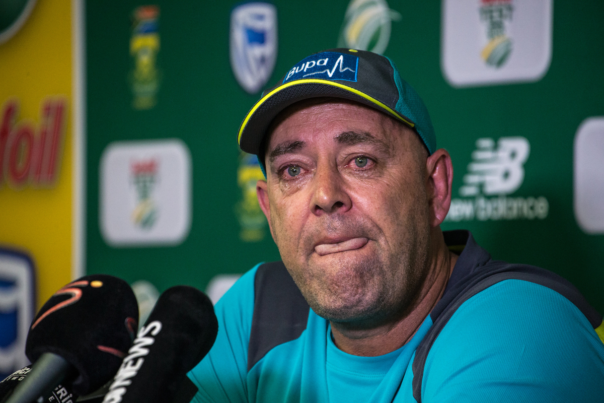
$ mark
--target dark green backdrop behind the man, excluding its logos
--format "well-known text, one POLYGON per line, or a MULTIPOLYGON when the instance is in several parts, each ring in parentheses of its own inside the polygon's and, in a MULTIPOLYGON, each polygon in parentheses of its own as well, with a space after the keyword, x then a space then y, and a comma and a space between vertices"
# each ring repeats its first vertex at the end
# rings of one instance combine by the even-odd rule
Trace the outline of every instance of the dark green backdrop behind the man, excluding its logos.
MULTIPOLYGON (((86 2, 87 224, 86 270, 146 279, 163 291, 188 284, 204 289, 219 273, 240 273, 279 259, 265 230, 243 242, 236 205, 236 134, 259 98, 237 84, 229 59, 230 13, 236 2, 158 1, 161 70, 152 109, 132 106, 129 54, 132 11, 125 0, 86 2), (109 246, 99 226, 99 164, 116 140, 181 138, 191 152, 193 211, 188 237, 172 247, 109 246)), ((275 1, 277 63, 268 85, 310 53, 336 47, 348 1, 275 1)), ((530 141, 525 178, 514 197, 545 196, 545 219, 445 222, 467 228, 496 259, 532 263, 573 282, 604 312, 604 236, 589 235, 573 214, 573 139, 586 117, 604 115, 604 2, 556 1, 553 56, 534 83, 453 88, 440 62, 441 4, 389 1, 400 13, 385 55, 416 88, 431 113, 439 147, 454 161, 454 197, 463 184, 475 141, 521 136, 530 141)), ((604 175, 604 172, 603 172, 604 175)))

